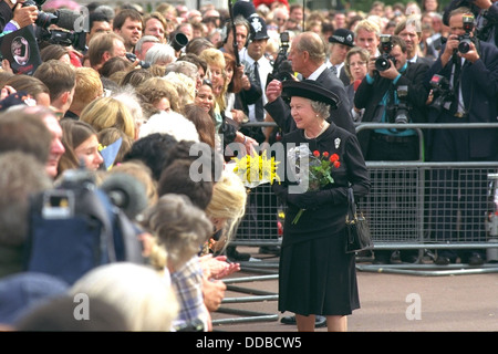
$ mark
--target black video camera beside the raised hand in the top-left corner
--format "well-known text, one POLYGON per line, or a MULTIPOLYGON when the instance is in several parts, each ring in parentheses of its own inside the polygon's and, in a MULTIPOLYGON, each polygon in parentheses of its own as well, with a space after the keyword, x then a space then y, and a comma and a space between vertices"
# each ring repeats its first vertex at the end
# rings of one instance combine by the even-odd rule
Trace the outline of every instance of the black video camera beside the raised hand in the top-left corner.
POLYGON ((34 6, 39 9, 37 21, 34 21, 38 43, 40 44, 44 41, 50 44, 72 45, 75 50, 83 51, 86 45, 86 32, 83 30, 75 31, 74 28, 81 14, 69 9, 59 9, 53 13, 44 12, 41 10, 44 2, 45 0, 27 0, 23 2, 24 7, 34 6), (49 27, 52 24, 64 30, 49 30, 49 27))

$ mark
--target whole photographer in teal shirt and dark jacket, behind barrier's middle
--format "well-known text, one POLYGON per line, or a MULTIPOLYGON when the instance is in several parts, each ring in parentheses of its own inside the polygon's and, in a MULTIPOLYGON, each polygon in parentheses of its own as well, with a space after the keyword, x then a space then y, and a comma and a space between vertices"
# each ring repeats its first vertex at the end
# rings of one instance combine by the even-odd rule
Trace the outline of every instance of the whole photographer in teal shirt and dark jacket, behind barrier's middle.
MULTIPOLYGON (((357 133, 365 160, 390 160, 404 162, 417 160, 419 156, 419 136, 414 129, 403 126, 406 123, 424 123, 426 118, 426 106, 428 90, 424 87, 425 73, 428 65, 412 63, 407 60, 406 43, 397 35, 381 38, 381 55, 371 58, 369 61, 369 73, 362 80, 354 95, 356 110, 365 108, 362 123, 396 123, 400 128, 363 129, 357 133)), ((384 171, 372 171, 380 174, 376 180, 387 184, 384 171)), ((403 171, 401 171, 403 174, 403 171)), ((400 176, 403 180, 404 176, 400 176)), ((378 207, 372 210, 372 219, 403 219, 401 206, 406 204, 406 190, 409 186, 382 186, 391 192, 385 194, 378 200, 378 207), (403 199, 404 198, 404 199, 403 199), (397 216, 396 214, 400 214, 397 216)), ((409 222, 403 225, 387 225, 386 237, 405 232, 402 228, 409 230, 409 222)), ((376 250, 374 252, 375 263, 387 264, 391 262, 392 251, 376 250)), ((401 260, 415 262, 416 250, 402 250, 401 260)))

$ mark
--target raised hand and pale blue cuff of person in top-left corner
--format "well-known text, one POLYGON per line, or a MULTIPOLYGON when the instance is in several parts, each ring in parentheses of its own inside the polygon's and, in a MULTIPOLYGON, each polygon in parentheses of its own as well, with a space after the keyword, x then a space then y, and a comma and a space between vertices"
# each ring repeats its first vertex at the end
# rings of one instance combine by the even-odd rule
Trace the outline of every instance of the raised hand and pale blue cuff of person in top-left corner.
POLYGON ((0 32, 15 31, 34 23, 38 19, 35 6, 23 7, 22 1, 0 1, 0 32))

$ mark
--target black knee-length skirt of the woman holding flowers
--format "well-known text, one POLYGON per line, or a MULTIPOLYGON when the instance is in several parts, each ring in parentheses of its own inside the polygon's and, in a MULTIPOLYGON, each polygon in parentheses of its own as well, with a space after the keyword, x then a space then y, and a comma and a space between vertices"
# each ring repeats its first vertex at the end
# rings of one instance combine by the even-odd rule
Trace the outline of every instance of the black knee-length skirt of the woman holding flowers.
POLYGON ((301 315, 349 315, 360 309, 355 256, 339 233, 282 247, 279 311, 301 315))

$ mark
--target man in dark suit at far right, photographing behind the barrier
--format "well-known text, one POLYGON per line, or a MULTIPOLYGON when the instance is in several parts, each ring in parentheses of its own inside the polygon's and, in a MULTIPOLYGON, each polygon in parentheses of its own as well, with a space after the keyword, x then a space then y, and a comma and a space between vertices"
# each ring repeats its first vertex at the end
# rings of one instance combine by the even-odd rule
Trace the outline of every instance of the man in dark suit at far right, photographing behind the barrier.
MULTIPOLYGON (((468 51, 461 52, 458 48, 459 37, 466 33, 464 18, 469 19, 468 23, 474 23, 468 8, 457 8, 449 13, 450 34, 442 48, 442 54, 427 71, 427 83, 434 75, 439 75, 439 81, 443 77, 449 83, 448 95, 439 95, 443 101, 434 97, 429 123, 497 122, 498 49, 494 44, 475 40, 470 31, 473 40, 468 43, 468 51)), ((496 162, 498 129, 432 129, 428 134, 427 156, 432 162, 496 162)), ((456 237, 459 240, 485 242, 485 232, 471 228, 484 222, 479 210, 486 205, 487 174, 471 174, 463 169, 434 170, 430 180, 437 184, 435 195, 430 196, 430 200, 435 202, 432 208, 434 237, 449 242, 456 240, 456 237), (458 205, 463 206, 461 210, 458 205), (457 211, 461 212, 458 216, 461 220, 459 230, 456 228, 457 211)), ((457 257, 471 266, 484 262, 483 250, 457 252, 445 249, 438 252, 436 263, 448 264, 455 262, 457 257)))

